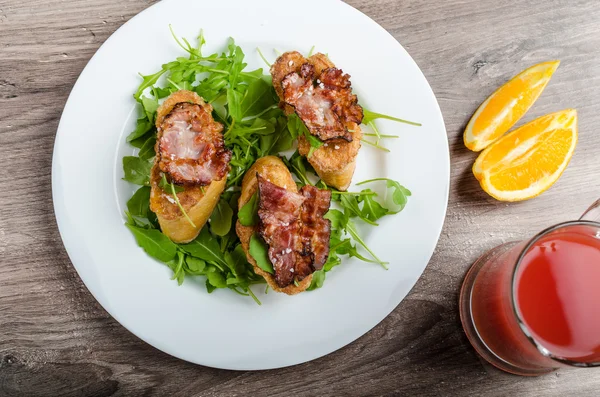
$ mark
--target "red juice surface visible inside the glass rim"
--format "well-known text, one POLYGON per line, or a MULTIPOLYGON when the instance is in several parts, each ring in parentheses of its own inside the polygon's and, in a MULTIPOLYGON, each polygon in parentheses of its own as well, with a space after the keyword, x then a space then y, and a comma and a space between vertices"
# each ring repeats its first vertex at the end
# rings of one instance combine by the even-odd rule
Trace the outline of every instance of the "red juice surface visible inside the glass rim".
POLYGON ((554 356, 600 361, 600 235, 549 234, 519 267, 516 300, 531 336, 554 356))

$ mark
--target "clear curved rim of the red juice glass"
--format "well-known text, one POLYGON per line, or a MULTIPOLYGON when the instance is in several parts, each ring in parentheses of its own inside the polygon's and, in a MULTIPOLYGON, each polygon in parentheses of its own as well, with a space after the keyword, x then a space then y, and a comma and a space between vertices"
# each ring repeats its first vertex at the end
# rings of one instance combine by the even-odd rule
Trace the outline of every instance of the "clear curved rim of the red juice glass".
POLYGON ((517 299, 516 299, 516 283, 517 283, 517 272, 519 270, 519 268, 521 267, 521 263, 523 261, 523 258, 525 257, 525 255, 529 252, 529 250, 531 249, 531 247, 533 247, 533 245, 535 243, 537 243, 542 237, 548 235, 549 233, 552 233, 558 229, 562 229, 568 226, 577 226, 577 225, 588 225, 588 226, 594 226, 598 229, 600 229, 600 222, 595 222, 595 221, 586 221, 586 220, 577 220, 577 221, 568 221, 568 222, 562 222, 562 223, 558 223, 554 226, 550 226, 544 230, 542 230, 541 232, 539 232, 538 234, 536 234, 532 239, 530 239, 527 244, 525 245, 525 247, 521 250, 521 252, 519 253, 519 257, 517 258, 515 267, 512 271, 512 277, 511 277, 511 306, 513 309, 513 312, 515 314, 515 317, 517 319, 517 323, 519 324, 519 327, 521 328, 521 331, 523 332, 523 334, 525 335, 525 337, 533 344, 533 346, 545 357, 548 357, 554 361, 557 361, 559 363, 562 364, 566 364, 566 365, 570 365, 573 367, 597 367, 600 366, 600 361, 597 362, 590 362, 590 363, 586 363, 586 362, 580 362, 580 361, 575 361, 575 360, 570 360, 568 358, 564 358, 564 357, 559 357, 553 353, 550 352, 550 350, 548 350, 543 343, 539 342, 538 340, 535 339, 535 337, 533 336, 532 332, 529 330, 529 327, 527 327, 527 325, 525 324, 525 321, 523 320, 521 313, 519 312, 519 308, 518 308, 518 304, 517 304, 517 299))

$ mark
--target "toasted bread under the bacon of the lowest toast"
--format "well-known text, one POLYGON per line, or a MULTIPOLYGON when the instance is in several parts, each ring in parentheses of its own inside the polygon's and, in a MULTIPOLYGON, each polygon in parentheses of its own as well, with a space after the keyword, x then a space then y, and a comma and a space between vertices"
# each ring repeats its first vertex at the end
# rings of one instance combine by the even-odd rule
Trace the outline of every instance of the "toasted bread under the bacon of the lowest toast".
MULTIPOLYGON (((294 182, 292 174, 290 174, 290 171, 287 169, 285 164, 283 164, 283 161, 275 156, 262 157, 256 160, 254 165, 252 165, 252 167, 250 167, 250 169, 248 169, 244 175, 244 179, 242 180, 241 196, 238 201, 238 208, 242 208, 258 189, 258 179, 256 177, 257 174, 279 187, 295 193, 298 192, 296 182, 294 182)), ((279 287, 275 282, 275 277, 259 268, 254 261, 254 258, 249 253, 250 237, 252 237, 252 235, 258 231, 258 225, 244 226, 238 220, 235 225, 235 230, 240 238, 242 248, 246 253, 248 262, 250 262, 250 264, 252 264, 254 267, 254 272, 264 277, 264 279, 267 281, 267 284, 273 290, 276 292, 283 292, 288 295, 295 295, 305 291, 310 286, 312 274, 302 279, 302 281, 299 281, 298 285, 290 284, 284 288, 279 287)))

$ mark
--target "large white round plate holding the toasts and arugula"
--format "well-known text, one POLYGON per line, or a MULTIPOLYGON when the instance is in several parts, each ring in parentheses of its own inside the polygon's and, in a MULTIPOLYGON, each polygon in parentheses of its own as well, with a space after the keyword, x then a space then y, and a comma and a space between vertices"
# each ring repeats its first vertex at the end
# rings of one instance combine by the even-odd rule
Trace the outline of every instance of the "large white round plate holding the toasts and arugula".
MULTIPOLYGON (((59 230, 73 265, 100 304, 152 346, 194 363, 268 369, 315 359, 354 341, 384 319, 413 287, 437 243, 448 199, 449 152, 435 96, 415 62, 377 23, 337 0, 166 0, 140 13, 100 47, 65 106, 54 147, 52 192, 59 230), (184 55, 169 33, 195 38, 209 51, 229 36, 248 70, 264 67, 260 47, 316 50, 352 76, 371 110, 415 120, 380 121, 391 153, 363 145, 354 181, 389 177, 413 196, 398 215, 364 228, 367 244, 389 270, 344 260, 323 288, 286 296, 255 288, 262 301, 230 290, 208 294, 202 279, 179 287, 171 270, 149 258, 123 226, 135 186, 121 180, 125 137, 137 110, 138 72, 151 74, 184 55)), ((359 187, 363 188, 363 186, 359 187)), ((352 189, 352 188, 351 188, 352 189)), ((354 188, 356 189, 356 188, 354 188)))

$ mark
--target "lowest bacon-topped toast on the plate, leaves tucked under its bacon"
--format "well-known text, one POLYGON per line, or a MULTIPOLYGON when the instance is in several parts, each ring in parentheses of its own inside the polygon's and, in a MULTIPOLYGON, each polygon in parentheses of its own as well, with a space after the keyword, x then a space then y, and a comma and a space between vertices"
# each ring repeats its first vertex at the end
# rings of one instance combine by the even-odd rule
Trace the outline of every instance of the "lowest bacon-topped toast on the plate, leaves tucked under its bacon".
POLYGON ((331 191, 314 186, 299 191, 285 164, 278 157, 266 156, 244 175, 239 208, 255 193, 258 223, 236 223, 248 262, 273 290, 288 295, 305 291, 312 273, 323 267, 329 255, 331 224, 323 216, 329 210, 331 191), (261 269, 250 254, 250 239, 255 233, 267 244, 273 273, 261 269))

